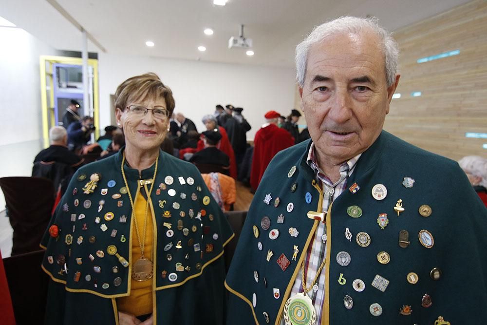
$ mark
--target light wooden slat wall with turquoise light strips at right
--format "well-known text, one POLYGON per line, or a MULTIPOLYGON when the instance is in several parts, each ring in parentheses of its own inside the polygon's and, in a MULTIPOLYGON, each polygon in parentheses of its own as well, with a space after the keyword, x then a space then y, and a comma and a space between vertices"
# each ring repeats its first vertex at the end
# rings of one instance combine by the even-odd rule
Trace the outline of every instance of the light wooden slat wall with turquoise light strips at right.
POLYGON ((384 129, 451 159, 476 154, 487 139, 487 1, 475 0, 395 31, 401 79, 384 129), (452 57, 417 59, 460 50, 452 57), (422 96, 412 97, 420 91, 422 96))

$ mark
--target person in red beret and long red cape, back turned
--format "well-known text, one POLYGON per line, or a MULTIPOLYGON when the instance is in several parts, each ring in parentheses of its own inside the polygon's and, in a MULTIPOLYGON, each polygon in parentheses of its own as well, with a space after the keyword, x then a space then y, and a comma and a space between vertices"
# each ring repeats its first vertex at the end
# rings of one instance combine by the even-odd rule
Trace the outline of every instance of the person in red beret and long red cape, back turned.
POLYGON ((262 175, 272 158, 281 150, 294 145, 294 138, 285 129, 277 126, 281 114, 275 111, 265 113, 267 123, 257 131, 254 138, 254 155, 250 172, 250 186, 257 190, 262 175))

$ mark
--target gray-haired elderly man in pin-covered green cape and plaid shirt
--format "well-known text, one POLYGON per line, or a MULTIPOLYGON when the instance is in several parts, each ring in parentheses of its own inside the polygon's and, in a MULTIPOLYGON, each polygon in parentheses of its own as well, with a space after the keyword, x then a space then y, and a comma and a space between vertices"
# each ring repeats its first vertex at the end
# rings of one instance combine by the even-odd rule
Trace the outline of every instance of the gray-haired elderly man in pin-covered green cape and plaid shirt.
POLYGON ((382 131, 397 57, 373 19, 298 45, 311 140, 262 178, 225 282, 228 324, 485 323, 487 210, 458 164, 382 131))

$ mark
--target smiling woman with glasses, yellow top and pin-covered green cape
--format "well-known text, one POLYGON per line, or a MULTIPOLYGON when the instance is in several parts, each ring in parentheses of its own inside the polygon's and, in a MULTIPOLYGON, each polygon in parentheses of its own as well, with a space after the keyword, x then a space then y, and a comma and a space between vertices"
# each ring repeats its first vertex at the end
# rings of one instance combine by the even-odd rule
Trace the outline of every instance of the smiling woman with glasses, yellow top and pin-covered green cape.
POLYGON ((192 165, 160 151, 174 110, 149 73, 120 84, 125 147, 79 169, 46 232, 46 324, 223 324, 232 231, 192 165))

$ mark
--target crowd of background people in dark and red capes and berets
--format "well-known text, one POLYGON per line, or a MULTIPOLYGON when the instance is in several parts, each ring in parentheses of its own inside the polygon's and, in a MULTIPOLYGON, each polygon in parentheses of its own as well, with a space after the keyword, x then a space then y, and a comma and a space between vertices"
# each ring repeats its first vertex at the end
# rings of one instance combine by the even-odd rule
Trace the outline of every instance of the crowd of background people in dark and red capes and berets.
MULTIPOLYGON (((91 116, 81 117, 80 107, 78 101, 71 100, 61 126, 54 126, 49 132, 50 147, 37 154, 34 164, 55 161, 66 164, 74 172, 79 166, 116 154, 125 146, 122 130, 112 125, 105 127, 105 134, 89 144, 95 130, 94 120, 91 116)), ((300 128, 298 124, 301 117, 298 110, 292 109, 287 117, 268 111, 251 146, 246 133, 252 127, 242 115, 243 110, 231 104, 216 105, 213 114, 203 116, 206 131, 201 134, 191 119, 173 113, 161 149, 195 164, 221 166, 226 175, 250 185, 254 192, 272 158, 281 150, 309 139, 310 135, 307 127, 300 128)), ((459 164, 487 206, 487 160, 468 156, 459 160, 459 164)))

